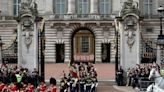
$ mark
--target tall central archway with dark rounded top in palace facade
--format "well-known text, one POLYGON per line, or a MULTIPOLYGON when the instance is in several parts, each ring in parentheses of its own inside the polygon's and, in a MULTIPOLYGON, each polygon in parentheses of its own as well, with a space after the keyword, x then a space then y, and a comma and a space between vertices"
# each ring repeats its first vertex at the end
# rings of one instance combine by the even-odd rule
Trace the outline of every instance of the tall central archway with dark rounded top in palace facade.
POLYGON ((95 61, 95 36, 88 28, 79 28, 72 33, 71 61, 94 62, 95 61))

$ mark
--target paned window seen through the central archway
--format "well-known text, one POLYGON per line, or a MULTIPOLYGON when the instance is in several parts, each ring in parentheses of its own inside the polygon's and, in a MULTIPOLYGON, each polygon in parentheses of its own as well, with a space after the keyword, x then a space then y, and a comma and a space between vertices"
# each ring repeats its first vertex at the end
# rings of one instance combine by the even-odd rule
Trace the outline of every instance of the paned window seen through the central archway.
POLYGON ((88 36, 82 36, 81 37, 81 52, 82 53, 88 53, 89 52, 89 37, 88 36))

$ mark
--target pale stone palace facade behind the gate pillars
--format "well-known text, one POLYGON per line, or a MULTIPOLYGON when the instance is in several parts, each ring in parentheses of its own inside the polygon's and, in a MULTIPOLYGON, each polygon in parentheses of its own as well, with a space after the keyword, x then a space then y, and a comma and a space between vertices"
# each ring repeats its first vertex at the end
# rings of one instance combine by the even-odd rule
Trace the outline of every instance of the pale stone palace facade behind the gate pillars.
MULTIPOLYGON (((115 22, 126 1, 140 11, 140 62, 156 61, 159 35, 157 8, 163 0, 32 0, 45 19, 46 62, 115 62, 115 22)), ((21 0, 0 0, 0 36, 3 49, 16 39, 21 0)), ((120 44, 119 44, 120 45, 120 44)), ((6 53, 10 54, 10 53, 6 53)), ((119 57, 121 55, 119 54, 119 57)))

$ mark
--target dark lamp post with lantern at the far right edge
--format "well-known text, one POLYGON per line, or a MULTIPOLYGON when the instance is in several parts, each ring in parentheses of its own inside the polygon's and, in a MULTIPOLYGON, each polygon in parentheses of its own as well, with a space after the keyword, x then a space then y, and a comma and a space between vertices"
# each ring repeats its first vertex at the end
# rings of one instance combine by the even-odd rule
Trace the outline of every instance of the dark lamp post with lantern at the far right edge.
MULTIPOLYGON (((164 8, 162 6, 160 6, 158 9, 157 9, 158 13, 159 13, 159 19, 160 19, 160 34, 158 35, 158 38, 157 38, 157 45, 159 47, 158 50, 162 50, 162 47, 164 47, 164 35, 163 35, 163 30, 162 30, 162 19, 163 19, 163 13, 164 13, 164 8)), ((159 59, 158 60, 161 60, 161 51, 157 51, 159 52, 159 59)))

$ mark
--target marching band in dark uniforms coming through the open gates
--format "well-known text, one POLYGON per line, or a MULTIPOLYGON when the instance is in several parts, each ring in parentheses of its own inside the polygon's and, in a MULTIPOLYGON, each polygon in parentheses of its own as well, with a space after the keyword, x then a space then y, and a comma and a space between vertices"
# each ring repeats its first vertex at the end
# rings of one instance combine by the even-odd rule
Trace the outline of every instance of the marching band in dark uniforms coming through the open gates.
POLYGON ((60 92, 96 92, 97 85, 97 72, 92 63, 72 63, 68 74, 63 71, 60 92))

